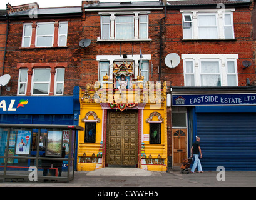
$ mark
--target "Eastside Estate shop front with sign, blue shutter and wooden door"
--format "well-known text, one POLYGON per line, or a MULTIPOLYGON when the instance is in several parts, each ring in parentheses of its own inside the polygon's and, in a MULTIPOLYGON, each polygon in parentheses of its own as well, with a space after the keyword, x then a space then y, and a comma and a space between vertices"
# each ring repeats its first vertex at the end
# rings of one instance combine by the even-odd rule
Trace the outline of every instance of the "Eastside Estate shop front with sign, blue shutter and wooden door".
POLYGON ((200 137, 203 170, 254 171, 256 169, 255 86, 235 88, 172 88, 173 165, 190 156, 200 137), (183 140, 182 134, 183 134, 183 140), (187 133, 187 134, 186 134, 187 133), (183 156, 175 147, 182 141, 183 156))

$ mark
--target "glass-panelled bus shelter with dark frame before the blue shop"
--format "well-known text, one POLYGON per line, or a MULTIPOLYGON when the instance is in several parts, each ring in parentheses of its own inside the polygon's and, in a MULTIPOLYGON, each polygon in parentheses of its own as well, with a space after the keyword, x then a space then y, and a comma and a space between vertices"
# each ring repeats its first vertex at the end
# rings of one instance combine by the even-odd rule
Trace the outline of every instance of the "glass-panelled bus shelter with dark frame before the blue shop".
POLYGON ((80 126, 0 124, 3 181, 74 179, 76 131, 80 126))

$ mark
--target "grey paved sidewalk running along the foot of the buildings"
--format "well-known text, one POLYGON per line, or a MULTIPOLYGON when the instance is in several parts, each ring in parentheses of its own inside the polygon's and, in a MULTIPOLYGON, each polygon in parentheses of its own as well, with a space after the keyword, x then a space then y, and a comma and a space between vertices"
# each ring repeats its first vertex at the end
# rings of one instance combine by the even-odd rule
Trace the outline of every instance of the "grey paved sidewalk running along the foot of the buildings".
POLYGON ((256 171, 227 171, 225 181, 217 181, 218 173, 182 174, 179 170, 156 172, 137 168, 103 168, 76 171, 74 180, 68 183, 1 182, 0 187, 256 187, 256 171))

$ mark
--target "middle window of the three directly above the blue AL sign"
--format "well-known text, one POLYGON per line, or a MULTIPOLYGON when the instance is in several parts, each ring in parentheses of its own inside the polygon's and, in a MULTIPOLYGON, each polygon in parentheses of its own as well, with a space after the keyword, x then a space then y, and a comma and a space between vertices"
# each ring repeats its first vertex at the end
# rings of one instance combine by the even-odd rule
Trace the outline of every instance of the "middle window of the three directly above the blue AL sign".
POLYGON ((34 69, 33 94, 49 94, 51 69, 34 69))

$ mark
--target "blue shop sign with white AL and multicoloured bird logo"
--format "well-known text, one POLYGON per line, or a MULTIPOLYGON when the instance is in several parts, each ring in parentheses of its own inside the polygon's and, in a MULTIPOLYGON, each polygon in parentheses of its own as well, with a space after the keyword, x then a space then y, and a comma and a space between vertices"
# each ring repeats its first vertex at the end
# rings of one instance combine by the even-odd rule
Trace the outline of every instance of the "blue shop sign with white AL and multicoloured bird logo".
POLYGON ((73 114, 73 96, 0 96, 0 114, 73 114))

